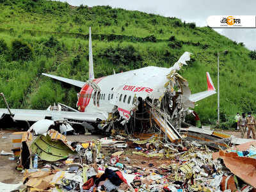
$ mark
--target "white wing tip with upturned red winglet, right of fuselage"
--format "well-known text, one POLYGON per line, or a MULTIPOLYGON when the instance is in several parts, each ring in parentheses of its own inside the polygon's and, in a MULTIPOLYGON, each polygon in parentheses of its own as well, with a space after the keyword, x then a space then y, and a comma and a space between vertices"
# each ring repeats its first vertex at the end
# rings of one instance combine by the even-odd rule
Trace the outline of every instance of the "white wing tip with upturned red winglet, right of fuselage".
POLYGON ((189 96, 189 100, 196 102, 198 100, 202 100, 205 99, 206 97, 209 97, 213 94, 216 93, 216 90, 214 88, 214 85, 212 83, 212 79, 211 76, 209 74, 209 72, 206 72, 206 77, 207 77, 207 86, 208 86, 208 90, 205 92, 200 92, 200 93, 195 93, 189 96))

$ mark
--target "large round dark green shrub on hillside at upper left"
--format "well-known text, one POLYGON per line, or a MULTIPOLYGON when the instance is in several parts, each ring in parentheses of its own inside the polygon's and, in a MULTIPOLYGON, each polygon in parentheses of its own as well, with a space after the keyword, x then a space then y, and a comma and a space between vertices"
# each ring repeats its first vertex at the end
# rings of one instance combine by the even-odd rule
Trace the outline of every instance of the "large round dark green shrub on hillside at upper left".
POLYGON ((29 60, 32 57, 31 47, 20 40, 12 42, 12 58, 13 60, 29 60))

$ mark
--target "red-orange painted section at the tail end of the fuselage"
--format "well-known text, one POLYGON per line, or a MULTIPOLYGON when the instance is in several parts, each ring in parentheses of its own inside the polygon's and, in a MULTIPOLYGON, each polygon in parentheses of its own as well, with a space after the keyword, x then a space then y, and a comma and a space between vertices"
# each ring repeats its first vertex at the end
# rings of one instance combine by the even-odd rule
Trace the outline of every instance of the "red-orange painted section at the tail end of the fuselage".
MULTIPOLYGON (((101 79, 104 77, 100 77, 98 79, 93 79, 92 81, 96 84, 98 84, 101 79)), ((83 88, 81 89, 79 93, 79 98, 78 98, 78 106, 80 106, 80 111, 84 112, 84 109, 88 104, 90 103, 90 97, 86 97, 86 94, 90 95, 92 94, 93 88, 92 86, 89 86, 89 84, 84 84, 83 88)))

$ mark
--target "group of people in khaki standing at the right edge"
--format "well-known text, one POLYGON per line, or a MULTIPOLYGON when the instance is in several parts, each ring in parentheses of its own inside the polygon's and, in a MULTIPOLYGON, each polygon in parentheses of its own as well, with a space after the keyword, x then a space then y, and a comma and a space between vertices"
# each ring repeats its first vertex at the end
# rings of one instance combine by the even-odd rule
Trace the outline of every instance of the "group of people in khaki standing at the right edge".
POLYGON ((248 112, 247 116, 245 113, 242 113, 242 116, 240 116, 239 113, 237 113, 235 119, 237 122, 237 129, 241 130, 241 138, 244 138, 244 134, 246 133, 247 129, 247 138, 250 138, 252 132, 253 140, 255 140, 256 122, 254 116, 252 115, 252 112, 248 112))

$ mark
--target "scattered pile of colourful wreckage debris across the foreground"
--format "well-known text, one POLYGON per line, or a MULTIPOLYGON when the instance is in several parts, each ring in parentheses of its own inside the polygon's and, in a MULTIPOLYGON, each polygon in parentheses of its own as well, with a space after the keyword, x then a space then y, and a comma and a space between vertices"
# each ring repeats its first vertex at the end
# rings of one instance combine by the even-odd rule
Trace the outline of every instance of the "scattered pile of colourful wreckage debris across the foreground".
POLYGON ((256 141, 212 151, 196 141, 116 136, 70 142, 22 134, 17 170, 27 191, 255 191, 256 141), (212 159, 213 158, 213 159, 212 159))

